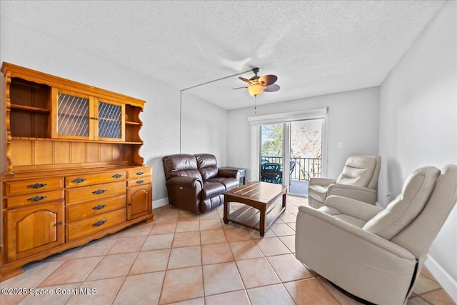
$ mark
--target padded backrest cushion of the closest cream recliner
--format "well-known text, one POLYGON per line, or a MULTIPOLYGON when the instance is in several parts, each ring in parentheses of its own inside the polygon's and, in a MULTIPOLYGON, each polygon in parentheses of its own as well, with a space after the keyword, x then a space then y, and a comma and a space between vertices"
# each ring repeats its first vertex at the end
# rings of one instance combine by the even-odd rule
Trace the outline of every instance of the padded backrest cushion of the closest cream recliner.
POLYGON ((406 179, 402 194, 388 204, 386 209, 368 221, 363 229, 384 239, 393 239, 421 213, 439 174, 440 170, 433 166, 414 171, 406 179))

